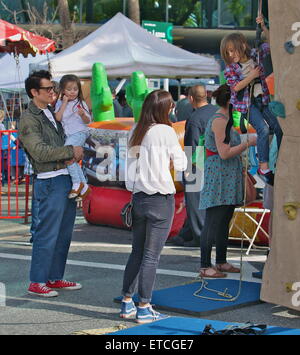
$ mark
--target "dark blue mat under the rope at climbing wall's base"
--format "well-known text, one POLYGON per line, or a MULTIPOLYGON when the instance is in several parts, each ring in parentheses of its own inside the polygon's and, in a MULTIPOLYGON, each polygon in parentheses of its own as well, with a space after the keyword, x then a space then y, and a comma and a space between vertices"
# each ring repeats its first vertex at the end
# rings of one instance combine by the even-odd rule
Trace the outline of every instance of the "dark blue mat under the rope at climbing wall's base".
MULTIPOLYGON (((207 280, 206 287, 220 292, 226 291, 231 296, 236 296, 239 290, 238 280, 218 279, 207 280)), ((218 300, 210 300, 194 296, 194 293, 201 287, 201 282, 193 282, 186 285, 165 288, 153 292, 151 303, 155 308, 169 310, 192 315, 208 315, 235 308, 249 306, 251 304, 260 303, 261 284, 257 282, 242 281, 241 292, 235 301, 228 301, 229 298, 218 295, 215 292, 202 289, 200 296, 214 298, 218 300)), ((121 301, 121 297, 115 299, 116 302, 121 301)), ((133 297, 138 302, 138 297, 133 297)))

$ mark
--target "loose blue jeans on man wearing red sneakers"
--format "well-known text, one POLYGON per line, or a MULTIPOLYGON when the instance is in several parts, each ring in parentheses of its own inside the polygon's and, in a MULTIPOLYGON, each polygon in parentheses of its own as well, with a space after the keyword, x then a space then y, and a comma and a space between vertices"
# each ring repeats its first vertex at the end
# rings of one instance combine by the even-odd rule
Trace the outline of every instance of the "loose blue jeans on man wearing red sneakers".
POLYGON ((39 223, 34 234, 30 281, 63 279, 76 217, 76 202, 68 198, 69 175, 36 179, 39 223))

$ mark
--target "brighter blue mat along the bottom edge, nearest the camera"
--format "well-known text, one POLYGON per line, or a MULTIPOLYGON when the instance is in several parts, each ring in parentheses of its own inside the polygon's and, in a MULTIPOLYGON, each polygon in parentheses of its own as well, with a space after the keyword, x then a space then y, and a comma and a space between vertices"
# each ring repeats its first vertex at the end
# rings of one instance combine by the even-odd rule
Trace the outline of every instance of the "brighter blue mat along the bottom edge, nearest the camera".
MULTIPOLYGON (((216 330, 224 329, 229 323, 199 318, 170 317, 153 323, 138 325, 111 333, 110 335, 200 335, 207 324, 216 330)), ((300 329, 268 326, 264 335, 300 335, 300 329)))

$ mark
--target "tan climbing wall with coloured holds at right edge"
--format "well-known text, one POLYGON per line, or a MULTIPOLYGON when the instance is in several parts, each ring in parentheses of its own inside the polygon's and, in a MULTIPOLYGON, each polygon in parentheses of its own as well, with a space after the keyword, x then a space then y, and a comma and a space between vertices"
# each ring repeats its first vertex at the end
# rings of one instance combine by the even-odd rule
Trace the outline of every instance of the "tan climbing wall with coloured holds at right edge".
POLYGON ((286 118, 279 118, 284 137, 261 299, 300 310, 300 1, 269 1, 269 20, 275 100, 284 105, 286 118))

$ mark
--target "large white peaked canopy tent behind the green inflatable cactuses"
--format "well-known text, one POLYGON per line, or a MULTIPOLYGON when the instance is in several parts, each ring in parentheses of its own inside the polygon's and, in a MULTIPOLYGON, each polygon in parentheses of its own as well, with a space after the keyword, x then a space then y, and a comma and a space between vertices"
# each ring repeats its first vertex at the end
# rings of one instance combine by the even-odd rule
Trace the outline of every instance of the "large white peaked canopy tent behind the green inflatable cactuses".
POLYGON ((109 78, 128 78, 137 70, 149 78, 207 77, 220 71, 214 58, 164 42, 121 13, 50 62, 54 78, 91 77, 96 62, 104 64, 109 78))

